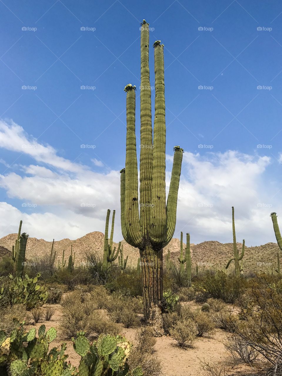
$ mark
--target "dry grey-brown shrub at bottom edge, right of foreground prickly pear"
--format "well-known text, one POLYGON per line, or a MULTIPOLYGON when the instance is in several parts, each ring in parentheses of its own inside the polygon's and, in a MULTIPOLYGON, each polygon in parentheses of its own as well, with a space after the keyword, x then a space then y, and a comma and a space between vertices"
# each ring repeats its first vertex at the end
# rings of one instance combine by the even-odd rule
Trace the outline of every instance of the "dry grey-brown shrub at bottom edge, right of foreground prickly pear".
POLYGON ((137 332, 135 340, 136 345, 131 349, 128 358, 130 370, 141 367, 143 376, 161 376, 160 361, 153 355, 156 340, 153 337, 152 329, 149 327, 142 328, 137 332))

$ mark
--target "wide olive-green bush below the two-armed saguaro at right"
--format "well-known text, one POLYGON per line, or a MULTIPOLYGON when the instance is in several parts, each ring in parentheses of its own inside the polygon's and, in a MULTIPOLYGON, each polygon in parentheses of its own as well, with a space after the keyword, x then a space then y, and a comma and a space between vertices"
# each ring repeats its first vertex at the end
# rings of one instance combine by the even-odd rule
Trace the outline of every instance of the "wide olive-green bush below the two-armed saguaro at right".
POLYGON ((206 273, 199 281, 198 290, 207 298, 222 299, 225 303, 234 303, 245 290, 246 282, 233 274, 228 276, 221 270, 215 275, 206 273))

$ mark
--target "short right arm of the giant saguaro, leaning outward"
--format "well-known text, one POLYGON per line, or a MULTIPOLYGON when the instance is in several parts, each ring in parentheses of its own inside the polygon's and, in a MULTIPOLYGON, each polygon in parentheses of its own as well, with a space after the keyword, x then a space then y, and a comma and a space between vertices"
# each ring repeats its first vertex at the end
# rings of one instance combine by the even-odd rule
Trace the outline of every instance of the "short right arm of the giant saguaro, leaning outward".
POLYGON ((177 209, 177 195, 179 188, 179 180, 181 173, 181 163, 183 158, 183 149, 179 146, 174 147, 174 158, 171 171, 171 183, 169 186, 168 200, 166 203, 166 214, 167 214, 167 239, 164 246, 166 246, 172 239, 175 223, 176 223, 176 209, 177 209))

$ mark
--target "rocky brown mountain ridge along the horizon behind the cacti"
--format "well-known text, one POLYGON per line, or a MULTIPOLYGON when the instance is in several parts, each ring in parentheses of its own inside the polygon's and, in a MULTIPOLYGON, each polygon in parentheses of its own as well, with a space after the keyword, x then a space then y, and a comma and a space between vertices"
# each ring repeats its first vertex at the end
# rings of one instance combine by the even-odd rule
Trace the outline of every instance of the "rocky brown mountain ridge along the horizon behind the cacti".
MULTIPOLYGON (((17 234, 9 234, 0 239, 0 257, 11 253, 12 245, 15 244, 17 234)), ((62 258, 62 252, 65 250, 65 259, 70 255, 70 248, 73 245, 73 252, 75 252, 75 265, 79 265, 81 261, 85 261, 85 253, 94 251, 102 256, 104 247, 104 234, 102 232, 94 231, 84 235, 76 240, 62 239, 54 242, 54 250, 56 251, 56 258, 58 262, 62 258)), ((117 243, 114 243, 117 246, 117 243)), ((127 244, 125 240, 122 241, 123 255, 128 255, 128 266, 136 267, 139 257, 139 250, 127 244)), ((26 247, 26 258, 32 259, 33 256, 43 256, 49 254, 52 246, 52 241, 44 239, 29 238, 26 247)), ((183 244, 186 247, 186 244, 183 244)), ((237 243, 239 250, 242 249, 242 244, 237 243)), ((164 248, 165 255, 170 250, 171 260, 177 261, 180 252, 180 240, 173 238, 171 242, 164 248)), ((270 267, 270 263, 277 267, 277 252, 279 247, 276 243, 267 243, 261 246, 245 247, 245 255, 242 260, 242 265, 245 271, 247 270, 266 270, 270 267)), ((199 244, 191 244, 192 265, 195 267, 196 263, 199 270, 207 268, 224 268, 227 261, 233 256, 232 243, 220 243, 218 241, 204 241, 199 244)), ((229 268, 232 268, 232 264, 229 268)))

